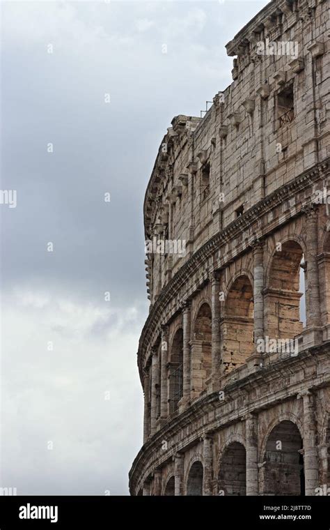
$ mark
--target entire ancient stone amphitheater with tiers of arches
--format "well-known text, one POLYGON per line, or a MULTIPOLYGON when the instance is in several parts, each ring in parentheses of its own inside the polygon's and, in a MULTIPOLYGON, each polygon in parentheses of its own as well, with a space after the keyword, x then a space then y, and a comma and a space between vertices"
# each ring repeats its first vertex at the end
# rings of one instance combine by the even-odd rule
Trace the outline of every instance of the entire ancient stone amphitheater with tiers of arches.
POLYGON ((330 494, 329 36, 327 0, 271 1, 159 147, 132 495, 330 494))

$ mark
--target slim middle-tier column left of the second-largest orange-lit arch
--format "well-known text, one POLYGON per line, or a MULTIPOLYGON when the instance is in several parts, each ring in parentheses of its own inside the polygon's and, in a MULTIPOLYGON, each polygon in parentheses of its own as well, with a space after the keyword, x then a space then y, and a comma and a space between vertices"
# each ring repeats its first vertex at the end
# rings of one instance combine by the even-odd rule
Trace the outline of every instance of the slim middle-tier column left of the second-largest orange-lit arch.
POLYGON ((213 273, 211 278, 211 310, 212 310, 212 391, 220 388, 221 376, 221 308, 219 301, 220 275, 213 273))

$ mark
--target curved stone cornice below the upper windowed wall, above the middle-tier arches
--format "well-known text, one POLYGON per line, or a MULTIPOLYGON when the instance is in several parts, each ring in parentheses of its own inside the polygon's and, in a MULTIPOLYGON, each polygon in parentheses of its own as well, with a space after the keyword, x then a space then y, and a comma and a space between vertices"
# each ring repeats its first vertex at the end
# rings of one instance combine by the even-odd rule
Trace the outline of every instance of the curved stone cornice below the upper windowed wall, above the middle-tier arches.
MULTIPOLYGON (((204 243, 201 248, 196 250, 194 255, 192 255, 187 262, 182 265, 180 270, 162 289, 157 301, 155 301, 155 304, 152 306, 152 310, 148 315, 146 324, 143 326, 141 338, 139 340, 138 351, 138 365, 141 380, 143 370, 143 352, 146 354, 148 351, 152 334, 154 333, 155 328, 157 328, 159 325, 159 322, 164 321, 163 312, 166 309, 168 303, 171 303, 171 301, 175 299, 180 287, 185 285, 185 283, 188 282, 189 278, 191 278, 196 271, 205 269, 207 260, 210 259, 210 257, 213 257, 215 252, 219 251, 221 245, 228 243, 235 238, 237 234, 244 232, 244 230, 248 229, 251 226, 251 223, 255 222, 256 219, 260 218, 265 213, 268 213, 279 204, 282 204, 283 201, 290 199, 290 197, 292 197, 292 195, 295 193, 308 188, 311 183, 317 181, 318 179, 324 178, 324 172, 326 172, 327 169, 329 169, 329 158, 321 162, 320 165, 315 165, 313 168, 308 169, 308 171, 302 173, 300 176, 292 179, 292 181, 289 183, 281 186, 281 188, 278 188, 272 192, 272 194, 258 202, 256 206, 252 206, 251 209, 246 211, 246 213, 231 222, 227 227, 221 230, 221 232, 215 234, 215 236, 204 243)), ((297 211, 297 215, 301 215, 301 213, 302 212, 297 211)), ((283 219, 283 221, 278 225, 281 225, 283 222, 287 221, 288 220, 283 219)), ((262 234, 262 236, 265 236, 272 230, 274 230, 274 225, 272 224, 272 227, 267 225, 265 227, 265 234, 262 234)), ((260 234, 258 234, 258 236, 256 235, 256 239, 259 238, 260 234)), ((254 241, 249 242, 249 246, 251 246, 253 243, 254 241)), ((248 248, 245 248, 244 252, 246 252, 248 248)), ((228 257, 228 260, 230 259, 233 259, 233 256, 228 257)), ((221 263, 221 267, 225 265, 226 262, 221 263)), ((200 286, 196 285, 196 288, 198 287, 200 286)), ((178 303, 178 310, 179 309, 180 303, 178 303)))

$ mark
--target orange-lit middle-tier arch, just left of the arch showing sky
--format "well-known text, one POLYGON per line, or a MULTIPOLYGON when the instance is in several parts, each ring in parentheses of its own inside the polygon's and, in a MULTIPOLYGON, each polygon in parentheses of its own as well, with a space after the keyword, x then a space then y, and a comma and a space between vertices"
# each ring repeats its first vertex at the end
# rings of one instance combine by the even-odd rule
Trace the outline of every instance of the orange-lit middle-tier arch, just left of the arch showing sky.
POLYGON ((253 354, 253 289, 246 275, 235 280, 226 296, 221 336, 223 373, 227 373, 253 354))

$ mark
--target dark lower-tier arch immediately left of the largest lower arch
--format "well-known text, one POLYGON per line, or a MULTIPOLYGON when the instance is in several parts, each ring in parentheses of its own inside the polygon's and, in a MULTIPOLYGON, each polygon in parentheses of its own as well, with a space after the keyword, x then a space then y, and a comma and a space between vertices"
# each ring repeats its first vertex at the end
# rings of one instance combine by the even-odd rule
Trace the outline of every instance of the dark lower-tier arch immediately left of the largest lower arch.
POLYGON ((246 450, 238 441, 230 444, 219 463, 219 495, 246 495, 246 450))

